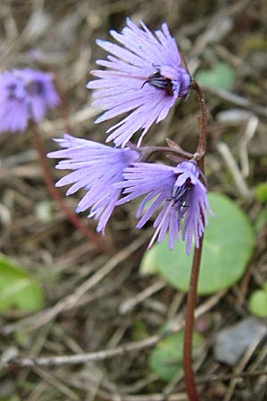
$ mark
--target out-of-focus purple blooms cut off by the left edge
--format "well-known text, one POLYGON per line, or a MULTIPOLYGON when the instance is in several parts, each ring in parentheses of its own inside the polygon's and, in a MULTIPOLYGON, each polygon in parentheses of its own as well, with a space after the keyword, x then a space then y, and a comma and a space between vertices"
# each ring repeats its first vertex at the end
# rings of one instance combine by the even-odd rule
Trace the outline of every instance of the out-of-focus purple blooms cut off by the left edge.
POLYGON ((0 132, 25 131, 28 120, 39 122, 60 99, 53 76, 24 69, 0 74, 0 132))

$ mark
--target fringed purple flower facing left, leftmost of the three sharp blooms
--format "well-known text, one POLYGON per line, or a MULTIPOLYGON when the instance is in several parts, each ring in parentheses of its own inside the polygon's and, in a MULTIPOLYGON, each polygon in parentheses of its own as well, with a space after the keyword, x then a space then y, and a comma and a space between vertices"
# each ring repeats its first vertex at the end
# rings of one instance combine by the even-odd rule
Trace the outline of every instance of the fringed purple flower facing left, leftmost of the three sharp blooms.
POLYGON ((85 188, 85 196, 77 205, 77 213, 90 209, 88 217, 99 219, 97 232, 104 233, 109 217, 116 206, 121 189, 113 184, 122 181, 123 170, 139 157, 139 152, 130 148, 117 149, 102 143, 87 141, 64 135, 55 139, 61 151, 48 153, 47 157, 61 160, 56 168, 74 170, 56 183, 56 186, 71 184, 66 195, 85 188))

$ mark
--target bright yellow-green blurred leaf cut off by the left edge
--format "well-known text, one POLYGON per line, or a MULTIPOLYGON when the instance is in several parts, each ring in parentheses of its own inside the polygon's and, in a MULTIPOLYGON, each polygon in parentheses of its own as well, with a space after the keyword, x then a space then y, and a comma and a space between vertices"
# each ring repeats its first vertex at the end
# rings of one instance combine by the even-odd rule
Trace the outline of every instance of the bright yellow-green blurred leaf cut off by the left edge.
POLYGON ((20 265, 0 254, 0 311, 23 312, 44 306, 42 288, 20 265))

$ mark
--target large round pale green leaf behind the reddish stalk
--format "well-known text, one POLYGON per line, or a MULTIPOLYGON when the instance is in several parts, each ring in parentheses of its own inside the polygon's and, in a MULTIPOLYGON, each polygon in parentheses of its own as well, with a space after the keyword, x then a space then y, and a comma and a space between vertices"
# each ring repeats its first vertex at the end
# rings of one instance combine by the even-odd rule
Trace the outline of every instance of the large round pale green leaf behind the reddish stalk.
MULTIPOLYGON (((215 217, 208 218, 206 227, 198 294, 211 294, 238 282, 255 244, 255 234, 247 216, 233 201, 218 193, 209 193, 208 201, 215 217)), ((186 255, 185 243, 181 241, 170 251, 166 238, 152 250, 158 274, 174 288, 188 291, 193 249, 186 255)))

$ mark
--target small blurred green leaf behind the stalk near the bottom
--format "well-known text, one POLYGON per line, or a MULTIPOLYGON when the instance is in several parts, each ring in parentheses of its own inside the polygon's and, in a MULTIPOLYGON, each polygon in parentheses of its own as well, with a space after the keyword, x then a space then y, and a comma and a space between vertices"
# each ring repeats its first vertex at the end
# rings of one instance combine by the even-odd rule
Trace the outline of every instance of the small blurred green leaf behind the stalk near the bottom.
MULTIPOLYGON (((202 342, 198 332, 193 333, 193 354, 196 353, 202 342)), ((175 374, 182 371, 182 344, 183 331, 158 342, 151 351, 149 364, 150 370, 158 374, 159 379, 170 381, 175 374)))

